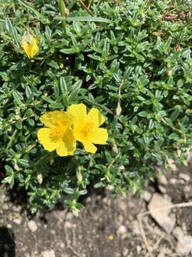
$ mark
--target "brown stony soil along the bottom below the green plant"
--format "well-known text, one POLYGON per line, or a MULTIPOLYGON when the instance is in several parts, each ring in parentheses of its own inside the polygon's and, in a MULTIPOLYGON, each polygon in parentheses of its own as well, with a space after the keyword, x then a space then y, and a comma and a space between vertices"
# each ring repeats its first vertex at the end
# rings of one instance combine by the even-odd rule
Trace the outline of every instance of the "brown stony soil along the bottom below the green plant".
MULTIPOLYGON (((78 217, 66 209, 55 209, 43 218, 29 219, 25 209, 1 192, 0 257, 179 256, 173 234, 164 233, 154 219, 146 215, 142 226, 153 250, 149 253, 137 215, 148 211, 155 192, 169 196, 172 203, 191 201, 191 167, 190 164, 178 171, 169 171, 167 181, 159 179, 147 186, 142 198, 134 194, 112 198, 110 191, 106 191, 105 196, 95 192, 85 198, 85 209, 78 217), (186 178, 181 173, 186 174, 186 178)), ((176 213, 175 226, 186 228, 188 236, 192 236, 191 208, 175 208, 171 213, 176 213)))

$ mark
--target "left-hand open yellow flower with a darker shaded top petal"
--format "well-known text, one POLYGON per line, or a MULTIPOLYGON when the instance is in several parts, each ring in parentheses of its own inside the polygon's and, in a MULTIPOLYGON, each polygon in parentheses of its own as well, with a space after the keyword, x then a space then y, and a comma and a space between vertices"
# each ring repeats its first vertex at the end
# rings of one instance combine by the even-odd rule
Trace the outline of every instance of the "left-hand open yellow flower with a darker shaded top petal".
POLYGON ((40 118, 48 128, 38 130, 38 140, 48 151, 56 149, 58 156, 73 155, 75 151, 75 138, 70 126, 73 116, 63 111, 50 111, 40 118))

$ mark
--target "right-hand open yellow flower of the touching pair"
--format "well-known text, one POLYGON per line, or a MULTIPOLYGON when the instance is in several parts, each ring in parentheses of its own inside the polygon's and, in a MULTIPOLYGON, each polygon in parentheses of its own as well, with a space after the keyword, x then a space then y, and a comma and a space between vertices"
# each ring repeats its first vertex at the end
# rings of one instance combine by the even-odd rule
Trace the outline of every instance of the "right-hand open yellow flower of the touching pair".
POLYGON ((68 114, 74 116, 73 133, 75 139, 80 141, 85 151, 95 153, 96 144, 105 144, 108 138, 107 129, 99 128, 105 118, 100 114, 100 111, 92 108, 87 114, 85 104, 72 104, 68 108, 68 114))

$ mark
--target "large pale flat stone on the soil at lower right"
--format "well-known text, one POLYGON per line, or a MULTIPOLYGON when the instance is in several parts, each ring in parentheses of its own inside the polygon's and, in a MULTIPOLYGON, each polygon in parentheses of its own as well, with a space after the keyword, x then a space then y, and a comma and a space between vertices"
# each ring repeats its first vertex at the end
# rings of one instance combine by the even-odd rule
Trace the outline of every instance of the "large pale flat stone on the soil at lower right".
POLYGON ((171 204, 169 199, 164 198, 159 193, 154 193, 148 206, 151 216, 161 228, 164 228, 166 233, 171 233, 176 223, 175 215, 172 214, 169 216, 170 209, 164 208, 171 206, 171 204))

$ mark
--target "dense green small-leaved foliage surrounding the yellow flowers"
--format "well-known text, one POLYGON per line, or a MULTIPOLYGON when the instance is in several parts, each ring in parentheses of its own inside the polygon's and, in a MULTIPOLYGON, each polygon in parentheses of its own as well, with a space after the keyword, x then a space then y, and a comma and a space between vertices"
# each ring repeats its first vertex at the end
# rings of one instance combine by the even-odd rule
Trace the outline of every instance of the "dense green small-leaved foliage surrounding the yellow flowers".
POLYGON ((191 2, 80 3, 0 1, 2 182, 26 188, 32 211, 68 194, 77 212, 89 185, 140 191, 192 144, 191 2), (21 48, 27 30, 39 41, 33 59, 21 48), (79 103, 105 116, 107 145, 68 157, 43 149, 39 117, 79 103))

